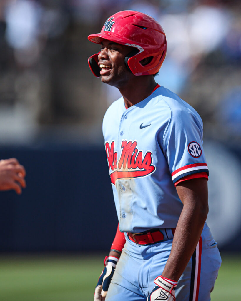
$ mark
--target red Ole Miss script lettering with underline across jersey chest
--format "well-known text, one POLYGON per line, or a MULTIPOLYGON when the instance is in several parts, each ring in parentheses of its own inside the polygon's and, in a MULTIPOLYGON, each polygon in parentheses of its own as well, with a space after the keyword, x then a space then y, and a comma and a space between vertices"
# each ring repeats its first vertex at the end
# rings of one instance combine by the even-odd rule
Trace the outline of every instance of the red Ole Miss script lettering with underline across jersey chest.
POLYGON ((111 183, 115 184, 117 179, 138 178, 151 174, 156 170, 152 164, 152 152, 143 152, 137 148, 136 141, 123 140, 121 143, 121 156, 117 161, 117 152, 114 151, 115 141, 111 145, 107 141, 105 150, 111 176, 111 183))

